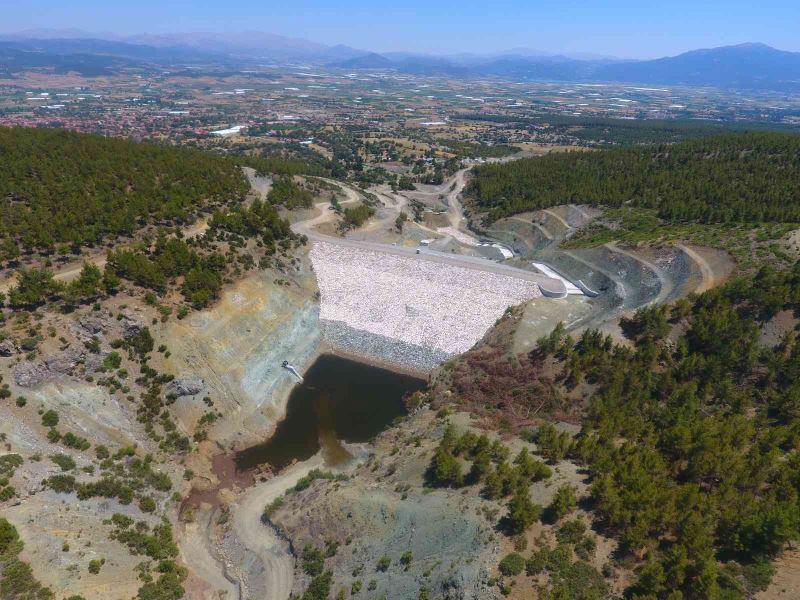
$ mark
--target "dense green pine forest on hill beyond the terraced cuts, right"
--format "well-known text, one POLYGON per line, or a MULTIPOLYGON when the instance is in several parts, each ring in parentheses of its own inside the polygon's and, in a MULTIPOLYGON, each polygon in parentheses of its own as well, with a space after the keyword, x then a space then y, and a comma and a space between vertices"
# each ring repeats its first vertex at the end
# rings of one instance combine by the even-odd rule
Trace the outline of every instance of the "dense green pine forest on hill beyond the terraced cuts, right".
POLYGON ((730 134, 482 165, 470 193, 489 221, 578 203, 653 208, 673 222, 800 222, 800 136, 730 134))

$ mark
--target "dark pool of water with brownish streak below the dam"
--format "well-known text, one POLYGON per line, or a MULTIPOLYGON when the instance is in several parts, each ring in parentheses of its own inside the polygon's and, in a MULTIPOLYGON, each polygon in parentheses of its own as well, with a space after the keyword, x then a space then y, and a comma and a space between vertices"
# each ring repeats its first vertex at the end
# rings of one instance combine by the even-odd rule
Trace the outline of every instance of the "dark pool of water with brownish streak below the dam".
POLYGON ((323 449, 329 463, 349 455, 339 443, 366 442, 406 413, 403 396, 425 381, 339 356, 323 355, 289 396, 286 418, 267 442, 236 454, 239 470, 282 469, 323 449))

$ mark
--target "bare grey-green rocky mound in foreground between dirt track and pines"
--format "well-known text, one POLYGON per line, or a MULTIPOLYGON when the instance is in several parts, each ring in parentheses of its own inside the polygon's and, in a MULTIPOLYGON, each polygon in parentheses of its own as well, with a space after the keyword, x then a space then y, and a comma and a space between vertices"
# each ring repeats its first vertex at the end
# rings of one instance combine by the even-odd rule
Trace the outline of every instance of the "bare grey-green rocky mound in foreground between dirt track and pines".
MULTIPOLYGON (((461 415, 453 420, 465 422, 461 415)), ((334 589, 350 588, 366 566, 369 579, 374 580, 371 598, 417 598, 423 586, 431 598, 500 598, 497 587, 489 585, 490 571, 499 560, 499 540, 494 523, 484 516, 486 501, 455 490, 430 493, 424 486, 431 451, 443 431, 434 411, 420 411, 362 450, 377 460, 352 467, 335 484, 317 480, 285 495, 283 505, 271 516, 272 523, 294 548, 308 543, 321 547, 328 540, 347 546, 346 552, 325 563, 333 572, 334 589), (419 446, 406 444, 397 451, 398 443, 412 437, 420 440, 419 446), (400 568, 407 552, 412 559, 400 568), (385 572, 375 568, 377 557, 382 556, 391 559, 392 566, 385 572)), ((260 509, 269 501, 266 498, 256 506, 260 509)), ((243 509, 248 508, 245 502, 235 505, 234 522, 241 522, 243 509)), ((249 522, 254 520, 251 517, 249 522)), ((247 532, 242 537, 249 546, 247 532)), ((302 595, 310 581, 297 561, 292 592, 302 595)))

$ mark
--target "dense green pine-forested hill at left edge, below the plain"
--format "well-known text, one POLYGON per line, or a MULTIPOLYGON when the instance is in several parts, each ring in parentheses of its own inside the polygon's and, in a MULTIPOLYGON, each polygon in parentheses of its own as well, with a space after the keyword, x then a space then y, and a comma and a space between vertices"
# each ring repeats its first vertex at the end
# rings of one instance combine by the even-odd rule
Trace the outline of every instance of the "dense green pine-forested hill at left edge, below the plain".
POLYGON ((0 238, 29 250, 94 243, 150 221, 182 221, 247 189, 235 162, 208 153, 0 128, 0 238))

